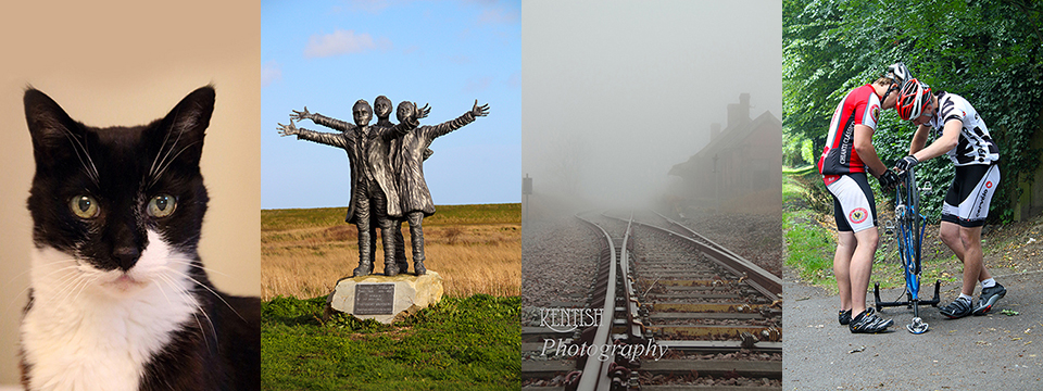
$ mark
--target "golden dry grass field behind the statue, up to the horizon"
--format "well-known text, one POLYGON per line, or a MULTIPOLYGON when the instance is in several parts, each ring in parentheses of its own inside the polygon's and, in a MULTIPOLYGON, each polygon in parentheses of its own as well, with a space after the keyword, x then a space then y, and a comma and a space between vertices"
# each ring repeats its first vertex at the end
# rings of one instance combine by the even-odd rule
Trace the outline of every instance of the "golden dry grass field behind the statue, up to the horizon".
MULTIPOLYGON (((443 205, 424 219, 428 270, 444 278, 445 294, 518 295, 522 283, 520 204, 443 205)), ((261 211, 261 297, 310 299, 329 294, 359 265, 355 226, 345 207, 261 211)), ((403 225, 410 272, 409 224, 403 225)), ((377 241, 374 272, 384 269, 377 241)))

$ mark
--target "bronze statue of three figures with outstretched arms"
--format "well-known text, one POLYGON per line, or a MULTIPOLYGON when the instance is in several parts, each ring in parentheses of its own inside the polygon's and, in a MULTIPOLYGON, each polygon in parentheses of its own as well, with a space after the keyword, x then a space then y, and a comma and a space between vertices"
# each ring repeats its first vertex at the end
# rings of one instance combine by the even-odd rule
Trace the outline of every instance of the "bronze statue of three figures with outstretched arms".
POLYGON ((384 241, 384 274, 394 276, 409 270, 405 260, 405 243, 402 237, 402 223, 410 223, 410 237, 413 242, 413 268, 416 275, 427 273, 424 267, 424 217, 435 214, 431 192, 424 180, 424 161, 431 155, 428 147, 435 138, 470 124, 475 118, 489 114, 489 104, 478 105, 456 119, 435 126, 419 126, 419 119, 430 112, 428 105, 417 108, 416 103, 399 103, 395 116, 399 124, 392 124, 391 100, 385 96, 369 102, 360 99, 352 106, 354 124, 331 118, 318 113, 293 110, 289 125, 278 124, 279 135, 297 135, 298 140, 309 140, 326 146, 338 147, 348 153, 351 173, 351 201, 348 204, 345 220, 359 228, 359 267, 354 276, 367 276, 373 273, 376 254, 376 229, 380 228, 384 241), (376 110, 374 110, 376 109, 376 110), (377 123, 369 125, 373 114, 377 123), (315 124, 340 130, 321 133, 299 128, 293 119, 310 119, 315 124))

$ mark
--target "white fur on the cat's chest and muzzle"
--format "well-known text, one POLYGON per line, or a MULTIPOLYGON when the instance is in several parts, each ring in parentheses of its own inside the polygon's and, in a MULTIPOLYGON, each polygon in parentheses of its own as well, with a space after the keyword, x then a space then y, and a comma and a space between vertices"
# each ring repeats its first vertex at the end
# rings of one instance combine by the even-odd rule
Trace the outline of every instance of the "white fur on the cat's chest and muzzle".
POLYGON ((137 390, 174 331, 208 321, 187 293, 187 256, 154 231, 148 239, 127 274, 50 247, 34 250, 34 303, 22 321, 30 390, 137 390))

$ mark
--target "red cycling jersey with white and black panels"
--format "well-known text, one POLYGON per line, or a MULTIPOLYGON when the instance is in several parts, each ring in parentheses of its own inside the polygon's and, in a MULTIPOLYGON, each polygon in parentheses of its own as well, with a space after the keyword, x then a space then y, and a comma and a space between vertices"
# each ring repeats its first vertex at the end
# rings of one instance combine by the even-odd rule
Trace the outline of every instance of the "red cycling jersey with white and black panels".
POLYGON ((818 160, 818 172, 827 186, 841 175, 867 172, 866 164, 855 151, 855 125, 876 130, 879 114, 880 97, 868 84, 847 92, 837 105, 829 123, 826 148, 818 160))

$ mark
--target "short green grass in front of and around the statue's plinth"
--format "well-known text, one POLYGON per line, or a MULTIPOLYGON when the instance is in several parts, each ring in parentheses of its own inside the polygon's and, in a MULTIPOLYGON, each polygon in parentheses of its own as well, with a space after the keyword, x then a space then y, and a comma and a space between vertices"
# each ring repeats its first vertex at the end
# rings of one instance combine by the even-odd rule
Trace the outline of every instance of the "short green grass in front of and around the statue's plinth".
POLYGON ((338 314, 326 299, 262 304, 265 390, 520 389, 520 299, 443 299, 405 321, 338 314))

